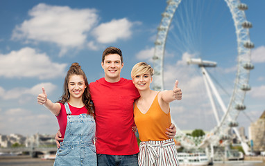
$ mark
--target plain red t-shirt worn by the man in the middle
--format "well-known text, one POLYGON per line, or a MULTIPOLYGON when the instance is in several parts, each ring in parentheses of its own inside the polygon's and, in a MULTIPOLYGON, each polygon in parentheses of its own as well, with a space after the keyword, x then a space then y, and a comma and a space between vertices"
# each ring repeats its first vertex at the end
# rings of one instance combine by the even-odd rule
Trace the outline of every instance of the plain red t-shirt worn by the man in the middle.
POLYGON ((89 84, 96 114, 96 153, 132 155, 139 152, 132 132, 133 102, 139 92, 132 80, 110 83, 105 78, 89 84))

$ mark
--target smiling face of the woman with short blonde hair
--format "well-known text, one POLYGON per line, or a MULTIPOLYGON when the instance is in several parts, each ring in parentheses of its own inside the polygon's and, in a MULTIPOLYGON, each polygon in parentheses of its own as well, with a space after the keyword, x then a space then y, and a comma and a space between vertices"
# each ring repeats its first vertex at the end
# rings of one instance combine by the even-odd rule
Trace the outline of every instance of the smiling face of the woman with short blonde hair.
POLYGON ((150 89, 150 84, 153 81, 153 77, 151 77, 150 72, 146 72, 140 75, 135 75, 132 78, 133 84, 139 91, 144 91, 146 89, 150 89))

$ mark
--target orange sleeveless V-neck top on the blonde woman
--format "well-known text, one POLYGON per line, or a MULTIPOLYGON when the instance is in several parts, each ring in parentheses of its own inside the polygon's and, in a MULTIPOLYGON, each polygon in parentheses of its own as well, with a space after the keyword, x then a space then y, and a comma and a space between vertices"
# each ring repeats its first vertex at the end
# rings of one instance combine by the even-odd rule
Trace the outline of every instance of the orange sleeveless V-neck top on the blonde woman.
POLYGON ((170 112, 166 114, 162 111, 157 100, 157 95, 145 114, 139 111, 135 104, 135 124, 141 141, 169 139, 165 132, 166 128, 169 128, 171 125, 170 112))

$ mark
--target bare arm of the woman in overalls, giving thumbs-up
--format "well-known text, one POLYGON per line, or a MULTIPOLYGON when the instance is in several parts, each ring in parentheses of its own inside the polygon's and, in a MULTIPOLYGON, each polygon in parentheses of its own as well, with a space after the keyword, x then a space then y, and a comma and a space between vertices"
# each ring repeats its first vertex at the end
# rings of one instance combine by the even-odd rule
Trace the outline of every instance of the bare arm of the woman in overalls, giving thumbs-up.
POLYGON ((53 103, 51 102, 51 100, 47 98, 47 94, 46 94, 44 87, 42 87, 42 93, 40 93, 37 96, 37 102, 39 104, 44 105, 44 107, 49 109, 51 113, 53 113, 55 116, 59 115, 60 110, 61 110, 61 105, 59 103, 53 103))

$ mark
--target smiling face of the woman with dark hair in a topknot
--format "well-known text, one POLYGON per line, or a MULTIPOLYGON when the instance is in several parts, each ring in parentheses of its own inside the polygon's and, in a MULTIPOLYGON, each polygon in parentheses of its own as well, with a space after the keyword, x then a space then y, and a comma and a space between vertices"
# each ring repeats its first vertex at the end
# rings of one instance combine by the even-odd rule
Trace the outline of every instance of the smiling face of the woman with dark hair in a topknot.
POLYGON ((71 98, 82 98, 87 86, 82 75, 71 75, 68 82, 68 91, 71 98))

